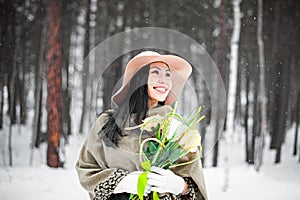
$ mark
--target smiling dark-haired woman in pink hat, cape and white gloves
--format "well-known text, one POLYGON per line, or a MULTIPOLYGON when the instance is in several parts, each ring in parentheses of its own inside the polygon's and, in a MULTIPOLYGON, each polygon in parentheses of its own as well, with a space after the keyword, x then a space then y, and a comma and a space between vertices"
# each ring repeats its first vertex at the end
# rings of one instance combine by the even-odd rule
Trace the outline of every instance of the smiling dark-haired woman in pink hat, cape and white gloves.
MULTIPOLYGON (((138 177, 143 172, 139 131, 124 128, 169 113, 191 71, 184 59, 153 51, 142 52, 128 62, 122 87, 112 97, 118 108, 103 112, 95 121, 76 164, 79 180, 91 199, 127 200, 130 194, 137 194, 138 177)), ((147 132, 143 138, 153 134, 147 132)), ((190 153, 180 162, 194 156, 190 153)), ((144 199, 150 200, 152 191, 158 192, 161 200, 206 200, 200 160, 172 170, 152 167, 144 199)))

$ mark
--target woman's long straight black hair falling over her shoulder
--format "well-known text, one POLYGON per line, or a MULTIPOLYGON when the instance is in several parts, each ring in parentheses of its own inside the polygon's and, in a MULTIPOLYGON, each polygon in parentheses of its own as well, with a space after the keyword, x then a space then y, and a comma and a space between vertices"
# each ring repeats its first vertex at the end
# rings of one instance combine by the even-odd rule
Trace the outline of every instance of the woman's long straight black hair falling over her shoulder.
POLYGON ((118 146, 119 138, 124 136, 122 128, 126 120, 131 118, 135 124, 140 124, 146 117, 149 70, 150 64, 142 67, 130 80, 127 96, 122 104, 114 112, 105 112, 109 115, 109 119, 99 134, 107 146, 118 146))

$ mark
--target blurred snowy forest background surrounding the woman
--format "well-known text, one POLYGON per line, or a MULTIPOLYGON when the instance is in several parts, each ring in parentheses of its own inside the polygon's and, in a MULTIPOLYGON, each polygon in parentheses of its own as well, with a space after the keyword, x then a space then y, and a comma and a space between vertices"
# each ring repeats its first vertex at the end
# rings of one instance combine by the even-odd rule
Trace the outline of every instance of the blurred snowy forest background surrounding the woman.
POLYGON ((88 199, 74 165, 89 127, 111 107, 130 58, 178 54, 173 46, 193 67, 180 111, 203 105, 206 115, 210 199, 300 198, 300 1, 0 0, 0 21, 1 199, 88 199), (169 49, 134 49, 140 29, 171 30, 201 49, 168 34, 156 39, 169 49), (117 46, 101 46, 121 33, 117 46), (209 61, 193 62, 196 52, 209 61), (214 75, 197 70, 205 63, 224 99, 214 75))

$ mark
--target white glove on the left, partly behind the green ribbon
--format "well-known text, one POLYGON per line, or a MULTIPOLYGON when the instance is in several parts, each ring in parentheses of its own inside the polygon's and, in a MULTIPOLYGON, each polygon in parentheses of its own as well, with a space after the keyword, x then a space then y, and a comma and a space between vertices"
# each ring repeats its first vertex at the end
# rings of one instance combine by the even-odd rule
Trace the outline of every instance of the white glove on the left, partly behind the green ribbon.
MULTIPOLYGON (((139 176, 142 174, 142 171, 133 171, 127 174, 117 185, 113 193, 129 193, 137 194, 137 183, 139 176)), ((144 196, 147 196, 151 192, 151 187, 146 186, 144 196)))

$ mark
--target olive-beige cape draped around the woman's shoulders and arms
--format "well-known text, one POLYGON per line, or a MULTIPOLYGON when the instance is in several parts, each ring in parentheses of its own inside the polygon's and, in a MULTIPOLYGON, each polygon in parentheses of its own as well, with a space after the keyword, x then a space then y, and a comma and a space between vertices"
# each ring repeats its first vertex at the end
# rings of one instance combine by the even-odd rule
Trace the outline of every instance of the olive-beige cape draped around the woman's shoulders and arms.
MULTIPOLYGON (((153 108, 148 111, 147 116, 156 114, 164 116, 171 109, 170 106, 153 108)), ((89 192, 91 199, 108 199, 116 185, 127 173, 143 170, 139 160, 138 135, 128 134, 122 137, 117 148, 105 145, 99 136, 99 130, 107 119, 108 115, 102 114, 92 125, 76 163, 79 181, 89 192)), ((185 156, 180 162, 192 159, 193 156, 193 154, 185 156)), ((182 177, 191 177, 198 187, 197 199, 207 200, 200 159, 192 164, 174 168, 172 171, 182 177)))

